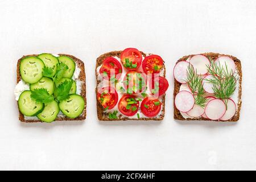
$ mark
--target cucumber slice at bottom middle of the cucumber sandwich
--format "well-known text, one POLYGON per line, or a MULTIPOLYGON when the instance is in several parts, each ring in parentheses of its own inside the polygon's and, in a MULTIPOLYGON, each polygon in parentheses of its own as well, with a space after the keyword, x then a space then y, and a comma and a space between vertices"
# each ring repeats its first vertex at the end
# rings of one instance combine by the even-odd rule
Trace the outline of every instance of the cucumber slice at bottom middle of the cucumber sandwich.
POLYGON ((37 117, 43 122, 51 123, 57 118, 59 111, 57 102, 52 101, 44 105, 44 110, 37 117))

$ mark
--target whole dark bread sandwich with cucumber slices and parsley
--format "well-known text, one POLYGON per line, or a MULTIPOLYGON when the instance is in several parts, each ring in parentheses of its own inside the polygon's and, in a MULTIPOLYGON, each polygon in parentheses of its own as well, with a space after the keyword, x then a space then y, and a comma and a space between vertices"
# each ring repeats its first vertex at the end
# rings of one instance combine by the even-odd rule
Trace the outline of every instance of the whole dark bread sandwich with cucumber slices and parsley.
POLYGON ((64 54, 23 56, 17 64, 14 94, 22 122, 84 120, 84 63, 64 54))

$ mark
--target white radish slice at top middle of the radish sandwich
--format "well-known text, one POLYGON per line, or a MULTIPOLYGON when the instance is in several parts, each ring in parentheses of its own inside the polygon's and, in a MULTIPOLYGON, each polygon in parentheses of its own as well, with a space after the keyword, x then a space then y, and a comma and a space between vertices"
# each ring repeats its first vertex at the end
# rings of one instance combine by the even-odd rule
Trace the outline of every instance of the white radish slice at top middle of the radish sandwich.
POLYGON ((197 75, 205 75, 208 72, 210 61, 207 57, 203 55, 195 55, 191 57, 189 63, 193 65, 194 69, 197 71, 197 75))

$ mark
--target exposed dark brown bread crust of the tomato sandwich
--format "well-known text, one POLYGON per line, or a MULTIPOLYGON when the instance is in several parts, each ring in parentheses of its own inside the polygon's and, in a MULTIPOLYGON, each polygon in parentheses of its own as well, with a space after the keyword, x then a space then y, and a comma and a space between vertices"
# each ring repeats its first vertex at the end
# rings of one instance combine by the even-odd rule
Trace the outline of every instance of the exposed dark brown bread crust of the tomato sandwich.
MULTIPOLYGON (((134 120, 134 121, 162 121, 164 118, 164 113, 165 113, 165 99, 166 99, 166 94, 164 94, 163 97, 163 105, 162 105, 162 110, 160 112, 162 112, 162 114, 158 117, 158 118, 140 118, 140 119, 135 119, 135 118, 128 118, 128 117, 123 117, 121 118, 121 115, 118 116, 118 119, 109 119, 108 114, 106 114, 104 112, 104 107, 102 107, 102 105, 100 104, 100 101, 97 100, 97 87, 98 84, 100 84, 100 80, 97 80, 98 77, 98 73, 97 73, 97 67, 99 67, 102 62, 104 61, 104 59, 106 57, 110 57, 110 56, 117 56, 120 57, 121 56, 122 51, 112 51, 112 52, 108 52, 105 53, 104 55, 101 55, 100 57, 97 58, 96 61, 96 68, 95 68, 95 74, 96 74, 96 101, 97 101, 97 115, 98 115, 98 120, 100 121, 127 121, 127 120, 134 120)), ((146 53, 141 52, 142 55, 144 57, 146 57, 146 53)), ((166 77, 166 68, 163 65, 163 69, 164 69, 164 77, 166 77)))

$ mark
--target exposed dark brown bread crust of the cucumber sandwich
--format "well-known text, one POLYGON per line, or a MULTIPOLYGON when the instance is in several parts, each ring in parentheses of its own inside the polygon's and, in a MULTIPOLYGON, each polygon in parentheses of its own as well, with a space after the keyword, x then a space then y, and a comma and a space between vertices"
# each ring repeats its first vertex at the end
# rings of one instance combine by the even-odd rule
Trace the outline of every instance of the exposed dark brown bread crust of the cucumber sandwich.
MULTIPOLYGON (((82 121, 85 120, 86 118, 86 85, 85 85, 85 67, 84 67, 84 62, 82 62, 80 59, 78 59, 75 56, 72 55, 67 55, 67 54, 63 54, 63 53, 59 53, 58 55, 60 56, 68 56, 71 57, 71 59, 73 59, 77 65, 77 67, 79 67, 81 69, 80 75, 79 75, 79 80, 82 82, 81 84, 81 96, 82 98, 84 98, 85 101, 85 107, 84 110, 82 111, 82 114, 77 117, 77 118, 68 118, 68 117, 57 117, 55 119, 55 121, 82 121)), ((38 55, 26 55, 26 56, 22 56, 17 63, 17 84, 20 80, 22 80, 22 77, 20 76, 20 72, 19 72, 19 67, 20 67, 20 61, 22 59, 24 59, 25 57, 30 57, 30 56, 38 56, 38 55)), ((18 102, 17 102, 18 103, 18 102)), ((28 123, 34 123, 34 122, 41 122, 39 119, 25 119, 24 115, 19 111, 19 121, 21 122, 28 122, 28 123)))

